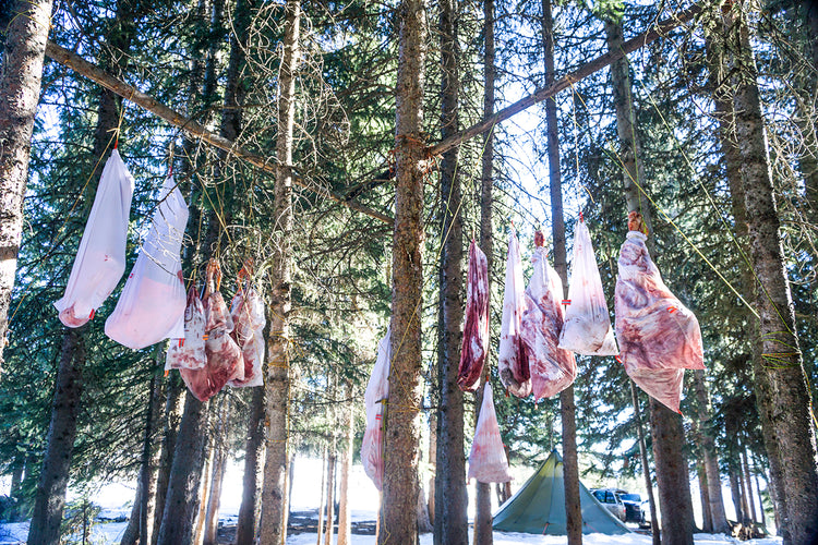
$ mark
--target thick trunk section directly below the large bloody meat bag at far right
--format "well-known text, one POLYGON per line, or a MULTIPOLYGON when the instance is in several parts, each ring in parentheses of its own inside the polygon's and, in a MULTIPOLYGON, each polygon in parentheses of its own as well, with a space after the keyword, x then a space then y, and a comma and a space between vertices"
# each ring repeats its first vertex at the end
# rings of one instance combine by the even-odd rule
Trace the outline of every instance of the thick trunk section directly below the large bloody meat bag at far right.
POLYGON ((662 512, 662 545, 693 545, 696 523, 687 461, 683 455, 685 431, 682 415, 651 398, 650 429, 662 512))

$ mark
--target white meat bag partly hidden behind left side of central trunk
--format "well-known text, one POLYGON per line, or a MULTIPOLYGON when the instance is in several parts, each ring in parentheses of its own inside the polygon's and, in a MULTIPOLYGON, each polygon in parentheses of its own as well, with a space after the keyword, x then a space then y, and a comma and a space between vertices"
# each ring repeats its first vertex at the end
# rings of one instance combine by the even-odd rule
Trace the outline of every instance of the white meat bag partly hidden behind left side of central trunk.
POLYGON ((372 368, 366 391, 363 395, 366 407, 366 431, 361 443, 361 463, 366 473, 380 491, 384 480, 383 459, 383 401, 389 397, 389 365, 392 360, 390 329, 377 343, 377 359, 372 368))

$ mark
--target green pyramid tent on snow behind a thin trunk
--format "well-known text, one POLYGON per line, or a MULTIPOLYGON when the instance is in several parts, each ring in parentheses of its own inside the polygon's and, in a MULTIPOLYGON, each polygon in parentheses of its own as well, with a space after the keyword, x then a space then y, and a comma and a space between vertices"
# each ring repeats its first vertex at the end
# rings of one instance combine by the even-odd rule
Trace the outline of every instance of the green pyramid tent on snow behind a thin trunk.
MULTIPOLYGON (((582 533, 630 532, 579 483, 582 533)), ((494 530, 542 535, 566 535, 563 459, 553 450, 528 482, 494 514, 494 530)))

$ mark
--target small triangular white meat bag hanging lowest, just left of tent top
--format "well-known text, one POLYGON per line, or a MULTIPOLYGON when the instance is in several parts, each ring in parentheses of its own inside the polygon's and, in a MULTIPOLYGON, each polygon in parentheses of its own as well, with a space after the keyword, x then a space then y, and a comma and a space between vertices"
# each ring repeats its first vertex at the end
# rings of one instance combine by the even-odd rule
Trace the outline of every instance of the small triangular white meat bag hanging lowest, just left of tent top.
POLYGON ((497 414, 494 412, 494 397, 491 383, 485 383, 483 403, 480 405, 474 441, 469 453, 468 479, 481 483, 507 483, 512 480, 508 459, 500 436, 497 414))

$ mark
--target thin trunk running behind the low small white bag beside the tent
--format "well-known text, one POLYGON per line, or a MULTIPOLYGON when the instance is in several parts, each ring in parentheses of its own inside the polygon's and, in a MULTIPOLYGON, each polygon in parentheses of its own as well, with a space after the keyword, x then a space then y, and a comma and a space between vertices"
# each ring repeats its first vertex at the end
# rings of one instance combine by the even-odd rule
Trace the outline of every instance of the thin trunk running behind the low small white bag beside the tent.
MULTIPOLYGON (((483 71, 485 83, 483 87, 483 117, 494 113, 494 80, 496 69, 494 66, 494 0, 483 2, 483 71)), ((489 131, 483 136, 483 156, 481 157, 482 172, 480 180, 480 249, 488 261, 489 279, 493 261, 492 240, 492 189, 494 184, 494 131, 489 131)), ((489 289, 491 293, 491 288, 489 289)), ((486 365, 488 366, 488 365, 486 365)), ((488 375, 485 373, 484 375, 488 375)), ((480 408, 483 405, 483 391, 485 389, 485 376, 481 379, 480 388, 474 395, 474 427, 477 428, 480 417, 480 408)), ((491 484, 476 482, 477 506, 474 512, 474 545, 492 545, 494 533, 492 531, 492 493, 491 484)))

